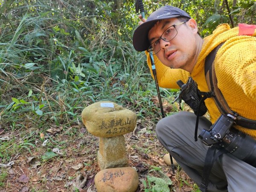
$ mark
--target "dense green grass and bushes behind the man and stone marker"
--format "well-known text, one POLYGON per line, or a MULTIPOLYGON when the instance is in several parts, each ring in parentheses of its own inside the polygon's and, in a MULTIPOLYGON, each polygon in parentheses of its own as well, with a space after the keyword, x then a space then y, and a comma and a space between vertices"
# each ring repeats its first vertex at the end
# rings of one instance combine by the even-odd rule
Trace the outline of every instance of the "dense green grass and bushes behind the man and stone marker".
MULTIPOLYGON (((134 4, 0 0, 0 132, 19 133, 0 140, 0 164, 17 151, 32 154, 35 140, 44 141, 40 133, 46 136, 49 128, 76 134, 81 111, 93 102, 111 100, 129 108, 142 125, 161 118, 145 55, 132 46, 138 23, 134 4)), ((256 23, 254 0, 144 1, 145 15, 165 4, 189 12, 203 37, 220 23, 256 23)), ((161 93, 164 101, 176 94, 161 93)), ((171 108, 166 112, 178 111, 171 108)), ((0 187, 6 188, 6 177, 0 172, 0 187)))

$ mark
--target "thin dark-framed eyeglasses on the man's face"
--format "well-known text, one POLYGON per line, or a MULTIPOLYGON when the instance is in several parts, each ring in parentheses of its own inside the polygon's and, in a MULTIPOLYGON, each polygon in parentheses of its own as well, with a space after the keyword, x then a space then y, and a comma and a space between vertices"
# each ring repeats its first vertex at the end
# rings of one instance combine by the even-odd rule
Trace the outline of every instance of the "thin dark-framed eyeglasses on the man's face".
POLYGON ((174 24, 172 26, 169 26, 164 32, 163 34, 160 36, 159 39, 157 39, 157 41, 154 41, 153 43, 150 44, 150 46, 148 47, 148 52, 152 52, 153 55, 157 54, 161 47, 160 47, 160 40, 163 39, 163 41, 166 41, 166 42, 169 42, 169 41, 172 41, 176 35, 177 35, 177 29, 176 29, 176 26, 178 25, 181 25, 183 23, 186 23, 186 21, 183 21, 181 23, 178 23, 178 24, 174 24))

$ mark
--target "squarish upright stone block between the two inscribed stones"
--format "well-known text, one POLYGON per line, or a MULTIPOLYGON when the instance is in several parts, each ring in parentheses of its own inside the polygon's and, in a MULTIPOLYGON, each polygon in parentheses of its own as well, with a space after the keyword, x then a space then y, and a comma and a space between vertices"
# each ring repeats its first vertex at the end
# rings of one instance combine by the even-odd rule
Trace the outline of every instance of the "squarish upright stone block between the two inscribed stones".
POLYGON ((123 135, 108 138, 100 137, 97 160, 101 170, 128 166, 125 137, 123 135))

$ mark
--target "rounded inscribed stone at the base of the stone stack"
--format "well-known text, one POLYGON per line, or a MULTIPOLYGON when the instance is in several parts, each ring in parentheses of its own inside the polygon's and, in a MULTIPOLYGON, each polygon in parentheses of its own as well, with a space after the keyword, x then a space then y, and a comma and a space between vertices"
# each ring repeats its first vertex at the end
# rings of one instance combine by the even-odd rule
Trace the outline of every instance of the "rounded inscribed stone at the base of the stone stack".
POLYGON ((104 169, 94 178, 97 192, 135 192, 138 174, 132 167, 104 169))

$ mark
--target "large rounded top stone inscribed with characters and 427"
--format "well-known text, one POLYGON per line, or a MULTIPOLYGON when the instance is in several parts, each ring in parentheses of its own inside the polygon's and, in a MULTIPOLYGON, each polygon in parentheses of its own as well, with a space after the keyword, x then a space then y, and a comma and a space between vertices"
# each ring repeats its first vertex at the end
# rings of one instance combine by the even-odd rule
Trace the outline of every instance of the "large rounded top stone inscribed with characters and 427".
POLYGON ((87 130, 97 137, 115 137, 130 133, 137 122, 133 111, 109 101, 87 106, 81 116, 87 130))

